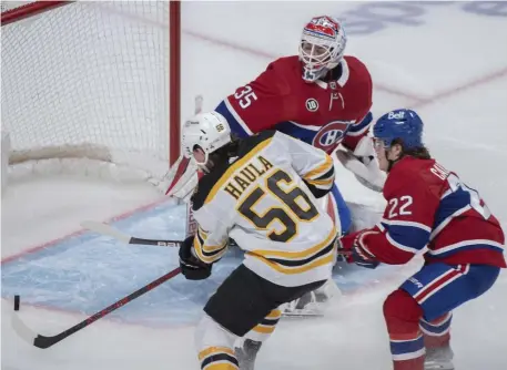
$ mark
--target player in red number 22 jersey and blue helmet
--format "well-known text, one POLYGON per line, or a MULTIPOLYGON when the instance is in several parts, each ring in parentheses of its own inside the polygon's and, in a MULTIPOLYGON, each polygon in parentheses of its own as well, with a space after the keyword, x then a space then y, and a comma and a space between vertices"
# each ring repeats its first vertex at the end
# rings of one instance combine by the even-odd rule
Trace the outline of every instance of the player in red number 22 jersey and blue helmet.
POLYGON ((375 227, 343 237, 341 251, 365 267, 424 254, 423 268, 384 302, 394 369, 454 369, 452 311, 506 267, 504 233, 477 191, 429 156, 414 111, 386 113, 373 133, 387 207, 375 227))

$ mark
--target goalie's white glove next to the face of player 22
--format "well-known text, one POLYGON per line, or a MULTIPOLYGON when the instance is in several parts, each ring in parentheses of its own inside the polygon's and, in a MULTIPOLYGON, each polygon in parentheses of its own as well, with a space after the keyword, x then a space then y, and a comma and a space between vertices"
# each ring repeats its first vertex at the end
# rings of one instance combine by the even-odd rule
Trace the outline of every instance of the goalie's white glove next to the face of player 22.
POLYGON ((336 157, 345 168, 354 174, 361 184, 374 192, 382 193, 386 174, 378 167, 371 137, 363 137, 354 152, 348 150, 336 151, 336 157))

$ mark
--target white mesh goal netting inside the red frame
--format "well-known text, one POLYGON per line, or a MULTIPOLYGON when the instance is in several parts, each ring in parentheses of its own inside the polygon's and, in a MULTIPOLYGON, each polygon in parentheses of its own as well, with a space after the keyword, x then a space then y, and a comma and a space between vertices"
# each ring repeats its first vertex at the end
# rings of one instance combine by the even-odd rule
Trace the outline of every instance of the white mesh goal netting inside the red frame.
POLYGON ((88 157, 162 176, 169 69, 168 1, 75 2, 3 25, 11 164, 88 157))

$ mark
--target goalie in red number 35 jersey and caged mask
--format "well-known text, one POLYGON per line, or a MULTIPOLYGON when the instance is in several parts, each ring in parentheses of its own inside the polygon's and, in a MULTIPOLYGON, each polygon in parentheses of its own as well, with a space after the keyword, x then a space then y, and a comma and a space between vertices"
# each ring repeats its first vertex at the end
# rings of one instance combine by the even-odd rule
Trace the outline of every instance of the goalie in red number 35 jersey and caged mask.
MULTIPOLYGON (((328 154, 342 144, 366 169, 374 156, 366 136, 372 122, 372 78, 357 58, 344 55, 346 35, 336 19, 313 18, 303 29, 298 55, 275 60, 215 111, 240 137, 277 130, 328 154)), ((369 166, 373 173, 364 177, 382 187, 384 177, 374 164, 369 166)), ((346 234, 349 209, 336 185, 331 195, 328 212, 346 234)))

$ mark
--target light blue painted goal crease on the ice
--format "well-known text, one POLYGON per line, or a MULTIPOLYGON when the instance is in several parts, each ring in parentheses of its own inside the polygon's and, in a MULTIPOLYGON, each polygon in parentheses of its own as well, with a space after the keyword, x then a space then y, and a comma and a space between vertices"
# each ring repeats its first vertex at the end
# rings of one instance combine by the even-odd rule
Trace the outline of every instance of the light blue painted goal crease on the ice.
MULTIPOLYGON (((113 226, 138 237, 183 239, 185 209, 168 202, 113 226)), ((213 266, 209 279, 187 281, 176 276, 110 317, 151 327, 194 323, 209 297, 241 260, 241 250, 231 248, 213 266)), ((174 248, 124 245, 84 233, 4 263, 2 297, 20 295, 22 302, 92 315, 178 266, 174 248)), ((347 266, 335 270, 334 279, 344 292, 388 274, 385 268, 371 271, 347 266)))

